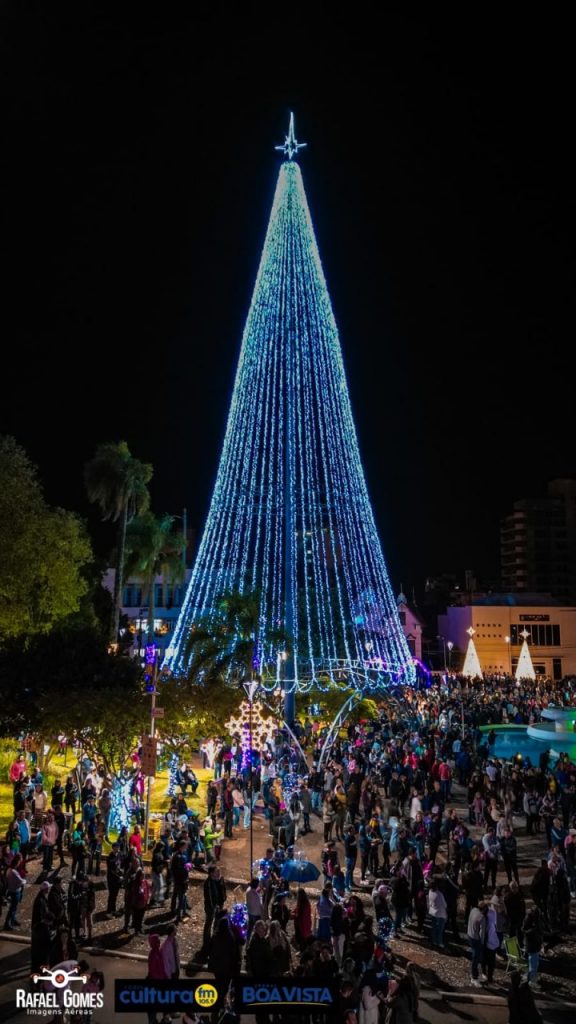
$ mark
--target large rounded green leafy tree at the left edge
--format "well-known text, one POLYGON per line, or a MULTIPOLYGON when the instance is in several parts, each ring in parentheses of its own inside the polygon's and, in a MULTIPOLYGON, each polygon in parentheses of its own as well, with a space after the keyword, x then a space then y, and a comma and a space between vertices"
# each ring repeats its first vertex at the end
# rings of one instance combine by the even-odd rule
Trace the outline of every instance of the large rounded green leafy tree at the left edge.
POLYGON ((47 633, 78 611, 91 559, 81 520, 46 504, 24 449, 0 437, 0 642, 47 633))

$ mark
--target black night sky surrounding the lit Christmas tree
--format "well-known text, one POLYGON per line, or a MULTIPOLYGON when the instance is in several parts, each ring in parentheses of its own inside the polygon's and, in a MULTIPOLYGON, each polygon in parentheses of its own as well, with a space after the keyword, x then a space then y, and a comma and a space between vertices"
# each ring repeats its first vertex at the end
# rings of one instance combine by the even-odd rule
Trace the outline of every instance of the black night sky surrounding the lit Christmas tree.
POLYGON ((569 27, 44 6, 0 12, 0 431, 47 499, 106 546, 83 466, 125 438, 202 526, 293 110, 394 585, 493 579, 576 472, 569 27))

